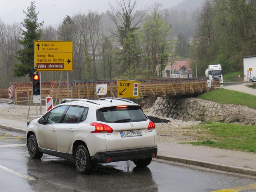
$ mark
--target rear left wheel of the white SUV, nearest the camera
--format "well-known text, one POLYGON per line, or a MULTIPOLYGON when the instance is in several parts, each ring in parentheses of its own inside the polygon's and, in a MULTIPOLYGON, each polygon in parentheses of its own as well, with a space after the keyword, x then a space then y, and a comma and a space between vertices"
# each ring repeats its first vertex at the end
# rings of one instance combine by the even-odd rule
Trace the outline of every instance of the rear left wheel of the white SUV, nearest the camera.
POLYGON ((88 174, 92 171, 92 162, 85 146, 79 145, 76 148, 76 152, 74 154, 74 163, 78 173, 88 174))

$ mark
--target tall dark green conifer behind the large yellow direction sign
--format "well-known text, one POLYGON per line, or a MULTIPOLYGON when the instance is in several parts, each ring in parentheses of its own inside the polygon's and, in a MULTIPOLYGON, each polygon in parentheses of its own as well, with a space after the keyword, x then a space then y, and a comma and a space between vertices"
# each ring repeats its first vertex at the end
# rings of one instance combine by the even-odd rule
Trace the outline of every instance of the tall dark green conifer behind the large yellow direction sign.
POLYGON ((36 12, 35 2, 31 2, 31 5, 27 7, 27 12, 23 12, 26 18, 21 22, 24 29, 21 29, 21 37, 18 40, 23 48, 17 52, 17 59, 21 63, 15 65, 14 75, 25 76, 29 74, 29 77, 32 77, 34 71, 34 41, 40 40, 40 27, 43 26, 43 22, 38 23, 37 16, 39 12, 36 12))

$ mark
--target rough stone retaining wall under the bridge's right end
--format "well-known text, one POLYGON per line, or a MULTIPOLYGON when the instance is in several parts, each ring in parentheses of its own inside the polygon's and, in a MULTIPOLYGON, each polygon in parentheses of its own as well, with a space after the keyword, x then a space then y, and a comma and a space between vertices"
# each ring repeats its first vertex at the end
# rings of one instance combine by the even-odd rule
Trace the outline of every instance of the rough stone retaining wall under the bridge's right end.
POLYGON ((255 125, 256 110, 244 106, 222 105, 189 98, 157 98, 150 113, 185 121, 221 121, 255 125))

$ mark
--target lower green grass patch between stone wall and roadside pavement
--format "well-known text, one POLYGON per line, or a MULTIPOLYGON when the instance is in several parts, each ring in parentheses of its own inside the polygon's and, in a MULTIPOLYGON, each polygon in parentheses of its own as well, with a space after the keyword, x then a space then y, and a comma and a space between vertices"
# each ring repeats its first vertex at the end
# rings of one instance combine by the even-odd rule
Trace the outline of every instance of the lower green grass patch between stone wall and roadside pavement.
POLYGON ((207 133, 208 138, 199 142, 186 142, 183 144, 205 145, 220 149, 240 150, 256 153, 256 126, 228 123, 202 123, 197 133, 207 133))

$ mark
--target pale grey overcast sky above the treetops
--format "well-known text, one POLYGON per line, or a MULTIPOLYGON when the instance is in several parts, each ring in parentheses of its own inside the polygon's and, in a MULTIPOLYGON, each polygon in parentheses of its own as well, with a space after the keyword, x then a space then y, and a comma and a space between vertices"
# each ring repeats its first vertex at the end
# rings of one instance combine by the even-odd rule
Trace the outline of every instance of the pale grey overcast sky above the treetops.
MULTIPOLYGON (((33 0, 0 0, 0 21, 21 22, 25 18, 23 13, 33 0)), ((39 11, 38 22, 45 21, 45 25, 59 24, 66 15, 73 16, 78 11, 98 10, 106 12, 109 2, 116 4, 116 0, 35 0, 36 11, 39 11)), ((183 0, 137 0, 138 7, 144 8, 155 2, 163 4, 164 8, 171 8, 183 0)))

